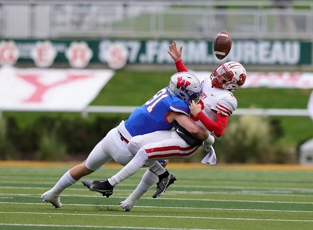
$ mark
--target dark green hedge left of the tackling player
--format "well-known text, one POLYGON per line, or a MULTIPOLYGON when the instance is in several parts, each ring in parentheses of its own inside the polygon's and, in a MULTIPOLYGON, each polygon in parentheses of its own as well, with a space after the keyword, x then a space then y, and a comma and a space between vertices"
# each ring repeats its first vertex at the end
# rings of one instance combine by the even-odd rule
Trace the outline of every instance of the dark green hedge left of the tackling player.
POLYGON ((120 117, 90 120, 76 116, 75 119, 41 116, 25 126, 19 125, 14 116, 1 121, 2 126, 6 126, 0 138, 1 160, 65 160, 66 156, 59 156, 62 148, 69 156, 87 156, 121 120, 120 117), (43 154, 47 147, 55 151, 43 154))

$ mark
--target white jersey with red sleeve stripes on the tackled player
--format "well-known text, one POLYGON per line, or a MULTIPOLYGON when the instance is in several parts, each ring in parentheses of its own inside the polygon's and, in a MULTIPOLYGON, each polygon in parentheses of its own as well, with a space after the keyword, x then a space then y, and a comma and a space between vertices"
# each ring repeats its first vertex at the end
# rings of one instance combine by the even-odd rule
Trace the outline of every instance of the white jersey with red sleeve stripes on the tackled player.
MULTIPOLYGON (((202 93, 197 104, 201 105, 202 112, 211 120, 216 121, 217 112, 225 116, 230 116, 237 108, 237 99, 233 93, 228 90, 212 87, 210 78, 206 78, 203 81, 201 89, 202 93)), ((193 116, 192 118, 197 125, 205 128, 199 120, 193 116)))

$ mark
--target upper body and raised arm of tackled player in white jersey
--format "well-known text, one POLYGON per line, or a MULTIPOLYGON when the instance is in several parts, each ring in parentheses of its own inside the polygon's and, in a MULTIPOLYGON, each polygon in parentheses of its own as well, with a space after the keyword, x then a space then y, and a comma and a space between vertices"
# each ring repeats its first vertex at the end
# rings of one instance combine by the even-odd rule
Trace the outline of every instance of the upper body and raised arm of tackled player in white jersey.
MULTIPOLYGON (((188 71, 182 59, 183 46, 177 48, 176 41, 170 45, 168 53, 175 61, 178 72, 188 71)), ((237 90, 246 79, 246 70, 236 61, 221 63, 213 70, 210 79, 206 78, 201 86, 202 93, 197 104, 190 104, 191 118, 197 125, 205 127, 220 137, 227 126, 228 117, 237 108, 237 99, 232 90, 237 90), (200 121, 200 122, 198 122, 200 121)))

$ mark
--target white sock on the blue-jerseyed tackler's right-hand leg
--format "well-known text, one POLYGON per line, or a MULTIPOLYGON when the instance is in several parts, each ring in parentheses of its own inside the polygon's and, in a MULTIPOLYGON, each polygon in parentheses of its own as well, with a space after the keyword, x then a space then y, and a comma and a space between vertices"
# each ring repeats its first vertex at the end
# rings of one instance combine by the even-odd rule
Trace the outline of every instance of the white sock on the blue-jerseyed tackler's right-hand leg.
POLYGON ((137 188, 132 192, 132 194, 127 197, 126 200, 131 200, 134 204, 143 196, 154 184, 158 181, 158 176, 152 173, 150 170, 145 171, 140 183, 137 188))

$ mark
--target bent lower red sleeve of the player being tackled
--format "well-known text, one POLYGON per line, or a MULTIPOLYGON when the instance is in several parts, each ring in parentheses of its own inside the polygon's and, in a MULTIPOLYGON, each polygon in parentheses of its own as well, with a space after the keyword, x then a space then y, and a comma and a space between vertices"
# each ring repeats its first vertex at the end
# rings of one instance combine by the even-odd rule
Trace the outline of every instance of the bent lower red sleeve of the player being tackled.
POLYGON ((208 131, 213 132, 217 137, 222 136, 228 122, 228 116, 221 113, 217 114, 216 122, 205 116, 202 111, 197 114, 196 118, 202 122, 208 131))

